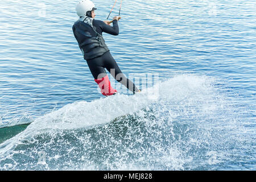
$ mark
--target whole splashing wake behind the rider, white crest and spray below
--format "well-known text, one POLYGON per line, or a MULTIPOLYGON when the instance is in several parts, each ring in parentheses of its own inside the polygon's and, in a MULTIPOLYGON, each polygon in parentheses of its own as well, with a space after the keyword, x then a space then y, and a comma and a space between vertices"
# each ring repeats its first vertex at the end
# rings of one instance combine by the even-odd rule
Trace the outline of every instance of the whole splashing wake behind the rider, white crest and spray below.
POLYGON ((134 96, 68 104, 0 144, 0 169, 232 168, 251 154, 237 153, 245 129, 215 82, 180 75, 134 96))

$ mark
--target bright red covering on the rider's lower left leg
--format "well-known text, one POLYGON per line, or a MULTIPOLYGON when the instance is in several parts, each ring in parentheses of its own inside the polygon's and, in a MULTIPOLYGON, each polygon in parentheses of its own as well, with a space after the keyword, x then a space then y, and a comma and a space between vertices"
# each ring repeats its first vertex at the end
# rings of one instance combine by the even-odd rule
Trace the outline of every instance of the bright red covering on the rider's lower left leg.
POLYGON ((104 96, 111 96, 111 95, 117 93, 117 90, 113 89, 112 86, 110 85, 108 75, 106 75, 103 78, 94 79, 94 81, 96 81, 96 83, 98 84, 98 86, 101 89, 101 93, 104 96))

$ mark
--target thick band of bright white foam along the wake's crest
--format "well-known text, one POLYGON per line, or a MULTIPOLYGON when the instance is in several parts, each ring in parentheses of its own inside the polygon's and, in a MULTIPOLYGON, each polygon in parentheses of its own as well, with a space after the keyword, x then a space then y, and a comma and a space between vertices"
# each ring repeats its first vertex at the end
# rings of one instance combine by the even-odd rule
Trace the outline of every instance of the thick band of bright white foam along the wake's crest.
MULTIPOLYGON (((59 110, 36 118, 22 133, 0 144, 0 155, 7 156, 24 139, 44 132, 57 133, 58 130, 73 130, 101 125, 122 115, 135 113, 151 104, 160 104, 163 101, 172 102, 174 105, 175 102, 182 104, 183 101, 195 101, 197 97, 203 97, 204 94, 211 92, 211 82, 212 78, 207 76, 179 75, 159 82, 133 96, 117 94, 92 102, 80 101, 65 105, 59 110)), ((164 111, 168 111, 168 108, 164 111)))

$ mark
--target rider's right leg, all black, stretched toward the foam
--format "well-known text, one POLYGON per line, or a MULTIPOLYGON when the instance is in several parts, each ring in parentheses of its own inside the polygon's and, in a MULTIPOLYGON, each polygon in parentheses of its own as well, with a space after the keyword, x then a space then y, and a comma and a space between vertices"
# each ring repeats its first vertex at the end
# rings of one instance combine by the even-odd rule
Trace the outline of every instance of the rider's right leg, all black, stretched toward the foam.
POLYGON ((106 69, 108 69, 115 80, 126 86, 126 88, 131 92, 139 92, 139 89, 135 86, 135 84, 126 78, 125 75, 123 75, 121 69, 118 67, 117 62, 114 60, 110 52, 104 54, 104 66, 106 69))

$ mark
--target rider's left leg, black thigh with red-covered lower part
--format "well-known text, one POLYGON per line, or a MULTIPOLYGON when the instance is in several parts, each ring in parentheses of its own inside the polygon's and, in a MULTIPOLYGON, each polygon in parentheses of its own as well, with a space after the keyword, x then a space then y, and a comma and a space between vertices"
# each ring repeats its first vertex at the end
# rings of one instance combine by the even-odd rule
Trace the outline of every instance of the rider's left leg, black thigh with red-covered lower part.
POLYGON ((101 89, 101 93, 104 96, 111 96, 117 93, 117 90, 113 89, 110 85, 109 77, 106 75, 105 68, 102 66, 103 57, 96 57, 92 60, 87 60, 90 72, 94 77, 94 81, 101 89))

